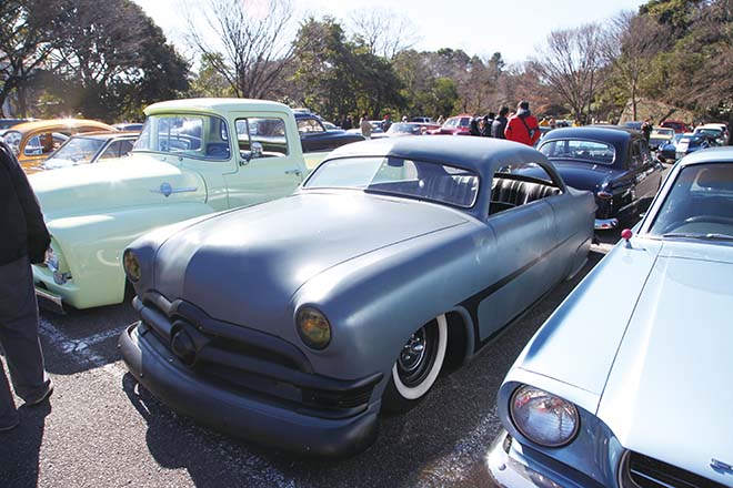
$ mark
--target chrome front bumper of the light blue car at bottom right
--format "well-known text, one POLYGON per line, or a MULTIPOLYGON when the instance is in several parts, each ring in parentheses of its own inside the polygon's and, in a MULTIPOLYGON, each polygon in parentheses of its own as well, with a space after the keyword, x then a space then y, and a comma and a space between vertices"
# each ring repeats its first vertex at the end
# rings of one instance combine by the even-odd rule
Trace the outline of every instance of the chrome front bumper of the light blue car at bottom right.
POLYGON ((578 471, 570 468, 565 472, 553 469, 541 457, 525 456, 522 445, 502 430, 486 456, 489 479, 501 488, 601 488, 590 478, 581 480, 578 471))

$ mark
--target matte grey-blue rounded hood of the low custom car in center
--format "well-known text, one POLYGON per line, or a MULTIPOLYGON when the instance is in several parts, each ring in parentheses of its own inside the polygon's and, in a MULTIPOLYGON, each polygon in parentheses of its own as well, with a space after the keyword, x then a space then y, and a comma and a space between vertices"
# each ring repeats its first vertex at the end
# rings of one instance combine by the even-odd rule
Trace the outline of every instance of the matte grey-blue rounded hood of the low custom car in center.
POLYGON ((441 205, 353 191, 302 192, 179 232, 158 251, 154 286, 215 318, 277 327, 298 288, 323 271, 465 222, 441 205))

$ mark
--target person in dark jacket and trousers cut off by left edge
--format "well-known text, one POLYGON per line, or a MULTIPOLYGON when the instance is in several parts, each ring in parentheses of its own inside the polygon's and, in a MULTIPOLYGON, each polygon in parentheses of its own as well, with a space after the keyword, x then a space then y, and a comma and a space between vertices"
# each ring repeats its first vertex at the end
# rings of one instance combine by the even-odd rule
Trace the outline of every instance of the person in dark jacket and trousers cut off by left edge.
MULTIPOLYGON (((51 242, 26 173, 0 141, 0 347, 12 386, 26 405, 44 401, 53 384, 38 338, 38 303, 31 263, 42 263, 51 242)), ((0 365, 0 431, 20 423, 0 365)))

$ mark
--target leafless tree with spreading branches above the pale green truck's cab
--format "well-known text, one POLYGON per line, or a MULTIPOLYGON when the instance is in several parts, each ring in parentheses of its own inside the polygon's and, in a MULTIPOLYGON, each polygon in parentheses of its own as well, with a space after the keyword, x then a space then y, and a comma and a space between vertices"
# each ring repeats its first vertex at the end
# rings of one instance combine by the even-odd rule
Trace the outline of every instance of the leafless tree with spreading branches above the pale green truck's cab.
POLYGON ((292 61, 292 12, 290 0, 209 0, 207 29, 189 18, 190 39, 237 96, 277 98, 292 61))

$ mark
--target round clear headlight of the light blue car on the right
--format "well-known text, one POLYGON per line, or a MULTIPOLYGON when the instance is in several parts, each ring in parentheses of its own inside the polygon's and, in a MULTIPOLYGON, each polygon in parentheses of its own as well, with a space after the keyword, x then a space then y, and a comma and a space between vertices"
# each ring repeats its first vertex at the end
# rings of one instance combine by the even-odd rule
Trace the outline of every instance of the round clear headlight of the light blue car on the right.
POLYGON ((578 408, 532 386, 521 386, 512 395, 512 423, 528 439, 544 447, 561 447, 578 434, 578 408))

